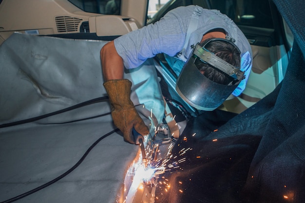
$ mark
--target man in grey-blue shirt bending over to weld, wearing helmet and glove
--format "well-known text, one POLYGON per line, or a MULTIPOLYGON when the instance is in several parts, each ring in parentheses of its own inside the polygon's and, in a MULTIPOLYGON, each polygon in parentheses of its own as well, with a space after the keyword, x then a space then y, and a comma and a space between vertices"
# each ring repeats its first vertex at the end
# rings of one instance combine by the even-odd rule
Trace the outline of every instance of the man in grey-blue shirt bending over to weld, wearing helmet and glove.
POLYGON ((238 96, 252 66, 250 44, 236 24, 217 10, 194 5, 173 9, 156 23, 110 41, 100 52, 104 87, 114 124, 127 142, 134 143, 132 129, 147 135, 149 128, 130 99, 132 82, 123 78, 124 67, 139 67, 159 53, 179 75, 179 96, 203 111, 238 96))

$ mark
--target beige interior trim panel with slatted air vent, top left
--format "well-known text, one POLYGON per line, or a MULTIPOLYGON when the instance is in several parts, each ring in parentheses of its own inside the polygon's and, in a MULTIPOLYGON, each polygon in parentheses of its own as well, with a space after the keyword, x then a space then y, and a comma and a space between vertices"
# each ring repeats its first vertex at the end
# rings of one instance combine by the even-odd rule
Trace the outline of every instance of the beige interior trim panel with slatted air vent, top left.
POLYGON ((144 24, 146 5, 146 0, 122 0, 123 16, 113 16, 84 12, 68 0, 2 0, 0 44, 14 32, 79 33, 85 21, 89 21, 90 32, 97 36, 124 35, 144 24))

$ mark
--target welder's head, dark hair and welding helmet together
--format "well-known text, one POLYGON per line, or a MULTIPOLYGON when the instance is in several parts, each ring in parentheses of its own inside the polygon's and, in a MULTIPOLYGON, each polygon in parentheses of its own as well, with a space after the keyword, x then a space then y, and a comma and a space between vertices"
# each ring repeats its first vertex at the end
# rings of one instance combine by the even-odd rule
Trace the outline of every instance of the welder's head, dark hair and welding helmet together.
POLYGON ((196 109, 216 109, 244 79, 240 54, 228 39, 212 38, 198 43, 178 77, 176 91, 196 109))

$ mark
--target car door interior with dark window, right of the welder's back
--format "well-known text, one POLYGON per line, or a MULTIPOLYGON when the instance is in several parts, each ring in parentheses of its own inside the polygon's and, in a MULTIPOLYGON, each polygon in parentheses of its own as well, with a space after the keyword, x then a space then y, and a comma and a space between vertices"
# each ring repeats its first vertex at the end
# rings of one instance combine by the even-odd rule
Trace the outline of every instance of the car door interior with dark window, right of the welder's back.
MULTIPOLYGON (((246 89, 241 95, 225 101, 219 108, 235 113, 245 111, 272 92, 284 78, 291 49, 291 41, 289 44, 287 40, 289 30, 283 27, 284 20, 272 1, 172 0, 149 19, 148 23, 159 20, 177 6, 191 4, 220 10, 233 19, 248 38, 253 53, 253 65, 246 89)), ((162 54, 156 58, 162 66, 171 69, 162 54)))

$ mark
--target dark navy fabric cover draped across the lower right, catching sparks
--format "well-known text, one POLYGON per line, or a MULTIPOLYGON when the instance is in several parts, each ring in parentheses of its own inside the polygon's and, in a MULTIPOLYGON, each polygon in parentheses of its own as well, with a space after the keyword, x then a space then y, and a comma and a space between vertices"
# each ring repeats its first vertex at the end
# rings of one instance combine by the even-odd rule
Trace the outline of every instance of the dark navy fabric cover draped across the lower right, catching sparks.
POLYGON ((295 36, 284 80, 239 115, 191 120, 172 149, 169 163, 179 167, 161 177, 171 186, 158 187, 156 202, 305 202, 305 5, 275 4, 295 36))

